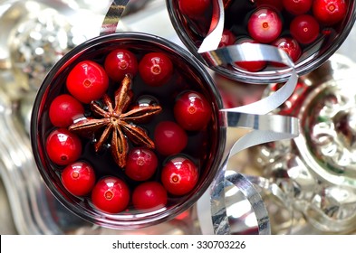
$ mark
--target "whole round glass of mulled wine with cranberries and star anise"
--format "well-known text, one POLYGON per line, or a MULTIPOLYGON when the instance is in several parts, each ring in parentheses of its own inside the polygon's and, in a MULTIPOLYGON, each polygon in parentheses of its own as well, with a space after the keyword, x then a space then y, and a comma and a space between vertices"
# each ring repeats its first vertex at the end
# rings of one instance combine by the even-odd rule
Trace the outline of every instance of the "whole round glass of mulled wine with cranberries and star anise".
POLYGON ((214 179, 225 147, 221 104, 207 71, 177 45, 143 33, 98 37, 43 81, 32 117, 35 160, 53 194, 82 218, 145 227, 187 210, 214 179), (54 102, 63 96, 76 102, 70 124, 58 125, 72 106, 54 102), (185 121, 192 115, 197 123, 185 121))

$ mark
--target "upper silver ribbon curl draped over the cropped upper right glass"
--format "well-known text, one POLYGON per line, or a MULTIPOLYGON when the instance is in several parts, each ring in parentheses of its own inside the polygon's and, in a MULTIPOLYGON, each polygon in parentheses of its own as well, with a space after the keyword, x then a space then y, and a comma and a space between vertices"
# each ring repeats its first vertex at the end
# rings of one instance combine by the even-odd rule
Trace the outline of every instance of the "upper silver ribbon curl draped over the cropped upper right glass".
POLYGON ((284 50, 267 44, 243 43, 217 48, 222 38, 224 24, 225 10, 223 0, 214 0, 209 31, 197 51, 207 61, 208 65, 235 65, 236 61, 273 61, 291 67, 290 77, 287 82, 271 96, 245 107, 226 110, 241 113, 266 114, 278 108, 292 95, 298 81, 293 61, 284 50))

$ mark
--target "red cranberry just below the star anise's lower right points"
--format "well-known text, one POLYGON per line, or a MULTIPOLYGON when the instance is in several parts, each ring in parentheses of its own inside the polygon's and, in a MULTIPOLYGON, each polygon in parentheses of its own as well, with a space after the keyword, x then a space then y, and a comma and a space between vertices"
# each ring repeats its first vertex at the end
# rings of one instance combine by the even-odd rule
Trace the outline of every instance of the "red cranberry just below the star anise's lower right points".
POLYGON ((157 170, 157 155, 150 149, 136 147, 130 150, 126 160, 125 173, 136 181, 148 180, 157 170))

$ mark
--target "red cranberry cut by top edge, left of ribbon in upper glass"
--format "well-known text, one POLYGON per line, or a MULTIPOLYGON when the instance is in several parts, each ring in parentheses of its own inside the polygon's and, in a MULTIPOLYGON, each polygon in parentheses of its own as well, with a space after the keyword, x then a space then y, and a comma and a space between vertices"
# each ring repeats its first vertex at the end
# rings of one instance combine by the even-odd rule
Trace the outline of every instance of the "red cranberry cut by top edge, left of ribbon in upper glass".
POLYGON ((195 18, 207 12, 211 0, 178 0, 178 5, 182 14, 195 18))

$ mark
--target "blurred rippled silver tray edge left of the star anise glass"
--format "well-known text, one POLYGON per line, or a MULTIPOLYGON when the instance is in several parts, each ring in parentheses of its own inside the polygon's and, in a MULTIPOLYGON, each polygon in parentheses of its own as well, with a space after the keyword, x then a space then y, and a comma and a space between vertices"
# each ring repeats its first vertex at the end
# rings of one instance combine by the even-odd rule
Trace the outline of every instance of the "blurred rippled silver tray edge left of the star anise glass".
MULTIPOLYGON (((17 120, 10 99, 0 92, 0 175, 11 206, 14 225, 20 234, 61 234, 61 222, 55 220, 65 211, 53 210, 56 201, 49 195, 37 173, 30 140, 17 120), (55 213, 55 215, 54 215, 55 213)), ((66 213, 66 215, 70 215, 66 213)), ((69 218, 69 217, 68 217, 69 218)), ((72 224, 81 220, 72 218, 72 224)), ((83 223, 82 223, 83 224, 83 223)))

